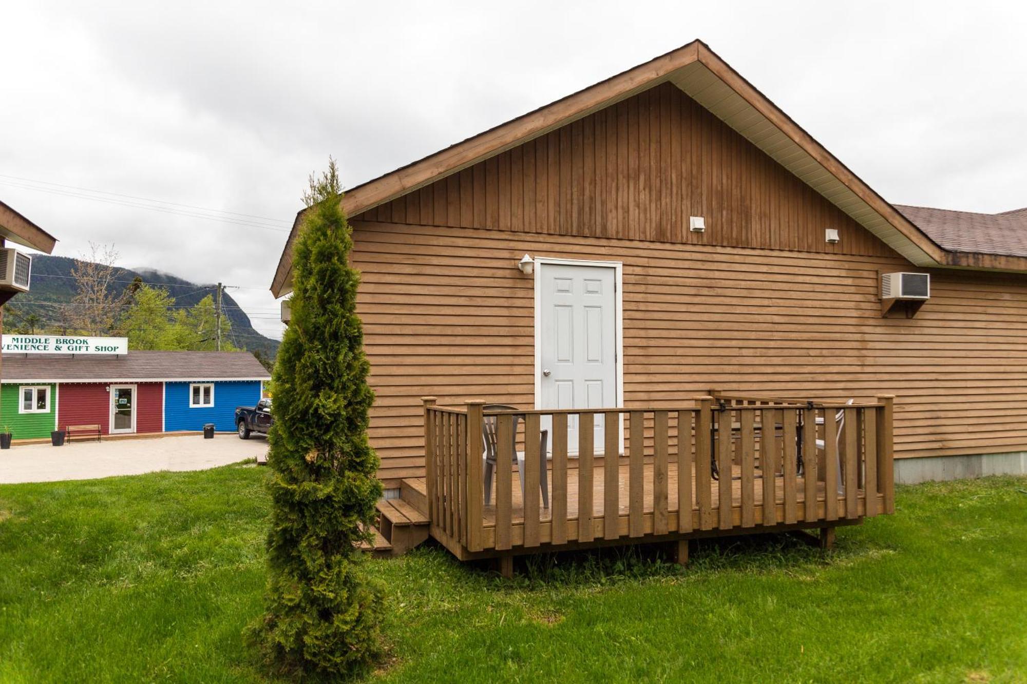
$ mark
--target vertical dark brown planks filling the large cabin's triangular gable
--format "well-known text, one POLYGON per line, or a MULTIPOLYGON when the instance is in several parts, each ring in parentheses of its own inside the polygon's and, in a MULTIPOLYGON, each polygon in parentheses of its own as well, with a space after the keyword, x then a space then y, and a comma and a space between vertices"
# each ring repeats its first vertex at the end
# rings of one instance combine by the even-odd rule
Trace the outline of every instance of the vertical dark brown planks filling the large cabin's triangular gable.
POLYGON ((686 244, 891 250, 670 83, 354 217, 686 244), (688 229, 706 218, 707 232, 688 229), (824 229, 841 237, 828 244, 824 229))

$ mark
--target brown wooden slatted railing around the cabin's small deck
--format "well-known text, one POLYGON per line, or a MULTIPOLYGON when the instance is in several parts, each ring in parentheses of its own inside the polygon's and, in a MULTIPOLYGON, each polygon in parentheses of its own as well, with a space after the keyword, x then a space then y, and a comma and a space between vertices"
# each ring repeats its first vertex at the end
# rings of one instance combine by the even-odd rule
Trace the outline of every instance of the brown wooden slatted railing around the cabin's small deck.
POLYGON ((481 401, 423 401, 432 534, 467 552, 828 526, 895 509, 890 395, 849 405, 718 394, 670 409, 489 412, 481 401), (486 420, 495 421, 499 464, 489 505, 486 420))

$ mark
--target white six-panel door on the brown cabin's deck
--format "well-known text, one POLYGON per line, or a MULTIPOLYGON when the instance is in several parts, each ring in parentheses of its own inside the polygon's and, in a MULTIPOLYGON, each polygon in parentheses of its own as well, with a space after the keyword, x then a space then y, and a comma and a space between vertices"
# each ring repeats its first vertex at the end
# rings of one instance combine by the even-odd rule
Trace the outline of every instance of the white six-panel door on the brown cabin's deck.
MULTIPOLYGON (((538 408, 616 407, 616 267, 541 262, 538 269, 538 408)), ((577 416, 568 420, 569 453, 577 453, 577 416)), ((603 429, 597 416, 596 453, 603 450, 603 429)))

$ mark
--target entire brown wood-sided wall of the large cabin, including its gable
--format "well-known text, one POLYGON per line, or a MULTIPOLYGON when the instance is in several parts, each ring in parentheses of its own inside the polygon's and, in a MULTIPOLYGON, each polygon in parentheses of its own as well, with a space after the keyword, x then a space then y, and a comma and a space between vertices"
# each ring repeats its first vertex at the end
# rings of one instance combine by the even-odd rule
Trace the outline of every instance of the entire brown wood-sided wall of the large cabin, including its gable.
POLYGON ((525 253, 623 262, 627 409, 890 393, 897 458, 1027 450, 1024 278, 939 270, 882 318, 879 273, 909 262, 673 85, 351 223, 386 486, 423 476, 421 396, 533 406, 525 253))

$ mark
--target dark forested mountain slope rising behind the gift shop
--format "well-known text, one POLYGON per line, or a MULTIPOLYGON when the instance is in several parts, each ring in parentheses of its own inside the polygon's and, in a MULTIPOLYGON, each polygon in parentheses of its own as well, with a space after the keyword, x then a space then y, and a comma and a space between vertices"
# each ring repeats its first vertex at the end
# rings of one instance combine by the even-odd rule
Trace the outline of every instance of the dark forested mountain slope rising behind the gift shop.
MULTIPOLYGON (((68 257, 33 256, 32 290, 20 294, 10 304, 25 315, 34 313, 39 316, 42 327, 60 329, 67 319, 67 304, 75 297, 75 278, 71 274, 74 265, 75 260, 68 257)), ((177 307, 192 306, 207 295, 217 299, 217 286, 197 284, 148 268, 118 268, 113 286, 115 296, 119 296, 137 276, 144 282, 167 290, 175 298, 177 307)), ((227 292, 222 293, 221 304, 224 314, 232 321, 232 343, 240 349, 259 350, 273 358, 278 351, 278 340, 258 333, 250 322, 250 316, 227 292)))

